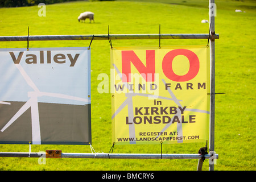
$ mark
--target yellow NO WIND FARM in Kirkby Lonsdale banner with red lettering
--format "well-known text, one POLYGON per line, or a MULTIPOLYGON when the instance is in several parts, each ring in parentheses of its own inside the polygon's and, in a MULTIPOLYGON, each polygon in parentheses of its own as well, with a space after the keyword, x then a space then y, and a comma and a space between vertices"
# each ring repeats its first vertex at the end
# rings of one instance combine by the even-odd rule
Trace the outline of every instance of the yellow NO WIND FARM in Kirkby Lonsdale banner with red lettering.
POLYGON ((110 56, 115 144, 209 138, 207 46, 115 47, 110 56))

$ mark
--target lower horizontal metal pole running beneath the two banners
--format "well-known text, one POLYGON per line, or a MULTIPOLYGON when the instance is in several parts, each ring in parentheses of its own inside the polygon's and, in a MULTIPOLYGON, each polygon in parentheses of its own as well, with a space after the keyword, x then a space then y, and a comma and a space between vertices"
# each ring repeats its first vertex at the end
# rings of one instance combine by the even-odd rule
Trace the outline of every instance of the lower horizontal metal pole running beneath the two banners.
MULTIPOLYGON (((40 158, 44 152, 0 152, 0 157, 40 158)), ((204 155, 209 159, 210 155, 204 155)), ((201 154, 162 154, 162 159, 201 159, 201 154)), ((161 159, 161 154, 105 154, 105 153, 61 153, 61 158, 95 158, 95 159, 161 159)), ((214 154, 218 159, 218 154, 214 154)))

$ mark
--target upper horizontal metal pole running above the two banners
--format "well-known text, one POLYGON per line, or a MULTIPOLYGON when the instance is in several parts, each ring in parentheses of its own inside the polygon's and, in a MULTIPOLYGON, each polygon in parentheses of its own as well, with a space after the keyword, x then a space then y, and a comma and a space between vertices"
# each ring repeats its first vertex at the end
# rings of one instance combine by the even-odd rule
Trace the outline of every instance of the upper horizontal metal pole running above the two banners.
MULTIPOLYGON (((160 34, 161 39, 208 39, 209 34, 160 34)), ((39 40, 159 39, 159 34, 0 36, 0 42, 39 40)), ((214 39, 219 35, 215 34, 214 39)))

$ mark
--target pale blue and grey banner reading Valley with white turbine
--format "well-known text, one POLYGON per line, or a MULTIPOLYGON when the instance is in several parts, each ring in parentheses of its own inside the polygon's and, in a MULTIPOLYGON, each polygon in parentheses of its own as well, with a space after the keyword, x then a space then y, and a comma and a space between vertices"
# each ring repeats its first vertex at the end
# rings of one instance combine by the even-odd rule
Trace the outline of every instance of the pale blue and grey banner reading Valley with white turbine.
POLYGON ((0 80, 0 143, 91 143, 87 47, 0 49, 0 80))

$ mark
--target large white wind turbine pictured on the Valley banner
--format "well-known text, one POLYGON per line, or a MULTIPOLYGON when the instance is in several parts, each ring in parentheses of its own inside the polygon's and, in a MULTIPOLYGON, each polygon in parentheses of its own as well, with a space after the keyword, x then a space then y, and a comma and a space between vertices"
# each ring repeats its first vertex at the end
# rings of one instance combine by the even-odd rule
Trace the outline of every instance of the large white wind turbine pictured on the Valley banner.
MULTIPOLYGON (((14 114, 13 118, 10 119, 9 122, 2 128, 1 132, 5 131, 13 122, 16 121, 26 110, 31 107, 31 126, 32 126, 32 144, 41 144, 41 133, 40 133, 40 121, 39 121, 39 109, 38 109, 38 97, 48 96, 48 97, 57 97, 64 98, 68 100, 82 101, 85 104, 90 104, 90 100, 87 98, 80 98, 74 96, 68 96, 65 94, 59 93, 49 93, 49 92, 40 92, 40 90, 36 87, 31 78, 27 75, 20 64, 15 64, 16 68, 19 69, 19 72, 23 76, 24 80, 27 84, 34 90, 32 92, 28 92, 28 97, 30 99, 18 110, 16 114, 14 114)), ((9 102, 0 101, 0 104, 8 104, 9 102)))

